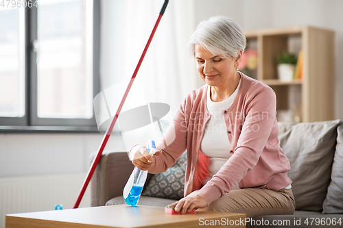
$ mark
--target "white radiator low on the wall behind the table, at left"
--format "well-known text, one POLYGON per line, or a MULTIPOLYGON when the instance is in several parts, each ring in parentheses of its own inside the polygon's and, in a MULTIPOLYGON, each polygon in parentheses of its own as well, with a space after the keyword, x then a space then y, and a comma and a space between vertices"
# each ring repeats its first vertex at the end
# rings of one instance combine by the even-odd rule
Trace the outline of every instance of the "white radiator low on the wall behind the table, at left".
MULTIPOLYGON (((0 227, 6 214, 55 210, 56 204, 72 208, 85 178, 86 173, 0 178, 0 227)), ((89 188, 79 207, 91 206, 89 188)))

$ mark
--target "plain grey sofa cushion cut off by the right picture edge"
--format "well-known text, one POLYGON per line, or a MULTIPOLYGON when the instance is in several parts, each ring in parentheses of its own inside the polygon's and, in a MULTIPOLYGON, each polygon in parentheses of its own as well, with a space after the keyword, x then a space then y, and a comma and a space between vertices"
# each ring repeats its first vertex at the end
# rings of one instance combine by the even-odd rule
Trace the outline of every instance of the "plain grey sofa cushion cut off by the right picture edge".
POLYGON ((338 126, 337 145, 333 157, 331 182, 323 203, 323 214, 343 214, 343 125, 338 126))

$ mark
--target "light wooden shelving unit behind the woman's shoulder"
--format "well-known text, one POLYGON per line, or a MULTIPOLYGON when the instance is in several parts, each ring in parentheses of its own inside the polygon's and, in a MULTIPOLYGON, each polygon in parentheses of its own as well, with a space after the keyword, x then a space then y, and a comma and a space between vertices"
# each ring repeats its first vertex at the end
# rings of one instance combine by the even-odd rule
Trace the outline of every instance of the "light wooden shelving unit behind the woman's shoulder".
MULTIPOLYGON (((310 26, 245 31, 247 49, 258 53, 257 70, 250 77, 276 92, 276 110, 290 110, 301 122, 334 118, 334 31, 310 26), (283 82, 277 77, 276 55, 303 49, 303 78, 283 82)), ((278 116, 279 118, 279 116, 278 116)))

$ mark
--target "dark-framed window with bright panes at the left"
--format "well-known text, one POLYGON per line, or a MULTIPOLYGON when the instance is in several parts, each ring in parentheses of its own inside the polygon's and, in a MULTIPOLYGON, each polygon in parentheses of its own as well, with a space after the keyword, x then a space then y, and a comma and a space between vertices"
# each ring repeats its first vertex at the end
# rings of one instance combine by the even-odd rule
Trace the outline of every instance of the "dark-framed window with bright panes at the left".
POLYGON ((99 1, 36 5, 0 7, 0 125, 95 129, 99 1))

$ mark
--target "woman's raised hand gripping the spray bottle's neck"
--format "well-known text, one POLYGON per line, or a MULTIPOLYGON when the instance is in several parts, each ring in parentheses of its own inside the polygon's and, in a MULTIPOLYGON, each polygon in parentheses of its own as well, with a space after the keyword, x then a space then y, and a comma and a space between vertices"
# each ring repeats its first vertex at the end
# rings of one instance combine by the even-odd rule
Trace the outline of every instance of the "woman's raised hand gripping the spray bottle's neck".
MULTIPOLYGON (((154 155, 161 155, 162 151, 156 151, 154 155)), ((154 164, 154 157, 149 154, 143 145, 136 145, 130 151, 130 160, 140 170, 148 170, 154 164)))

